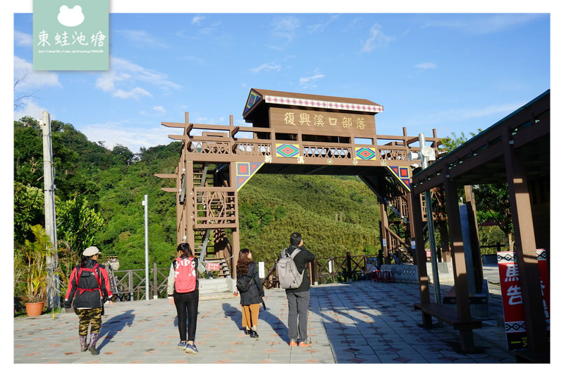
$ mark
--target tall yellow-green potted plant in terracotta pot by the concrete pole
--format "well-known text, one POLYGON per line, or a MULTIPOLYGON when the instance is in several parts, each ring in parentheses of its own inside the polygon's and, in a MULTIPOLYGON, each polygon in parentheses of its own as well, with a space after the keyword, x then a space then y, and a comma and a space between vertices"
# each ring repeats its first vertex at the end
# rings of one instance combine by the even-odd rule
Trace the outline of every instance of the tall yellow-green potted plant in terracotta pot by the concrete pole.
POLYGON ((25 240, 20 248, 25 262, 25 311, 28 316, 41 315, 45 304, 45 288, 47 286, 47 255, 51 242, 47 232, 40 224, 32 226, 34 241, 25 240))

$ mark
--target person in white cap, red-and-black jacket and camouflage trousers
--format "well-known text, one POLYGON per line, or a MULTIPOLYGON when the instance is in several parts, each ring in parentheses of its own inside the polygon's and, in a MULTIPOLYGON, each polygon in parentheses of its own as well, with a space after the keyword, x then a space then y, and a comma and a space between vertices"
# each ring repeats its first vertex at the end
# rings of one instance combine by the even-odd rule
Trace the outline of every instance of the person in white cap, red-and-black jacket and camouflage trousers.
POLYGON ((111 303, 111 287, 108 272, 104 265, 98 264, 100 251, 97 247, 88 247, 82 252, 82 260, 71 272, 65 295, 65 308, 71 308, 74 302, 75 313, 78 315, 78 339, 80 351, 90 350, 92 355, 98 355, 96 342, 102 326, 104 302, 111 303), (88 327, 90 327, 90 342, 87 344, 88 327))

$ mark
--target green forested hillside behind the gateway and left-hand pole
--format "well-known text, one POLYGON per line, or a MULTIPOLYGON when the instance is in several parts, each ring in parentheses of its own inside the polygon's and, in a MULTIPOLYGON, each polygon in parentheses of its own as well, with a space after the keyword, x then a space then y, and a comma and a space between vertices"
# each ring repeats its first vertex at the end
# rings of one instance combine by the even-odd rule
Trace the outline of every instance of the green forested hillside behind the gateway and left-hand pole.
MULTIPOLYGON (((121 269, 144 267, 141 205, 149 195, 149 258, 166 267, 176 249, 173 193, 159 188, 173 173, 180 142, 134 153, 87 140, 71 124, 52 121, 57 231, 73 253, 97 245, 121 269)), ((37 121, 14 122, 14 242, 44 224, 42 138, 37 121)), ((255 260, 273 260, 300 231, 319 257, 374 254, 379 248, 376 197, 358 178, 257 174, 239 191, 240 244, 255 260)))

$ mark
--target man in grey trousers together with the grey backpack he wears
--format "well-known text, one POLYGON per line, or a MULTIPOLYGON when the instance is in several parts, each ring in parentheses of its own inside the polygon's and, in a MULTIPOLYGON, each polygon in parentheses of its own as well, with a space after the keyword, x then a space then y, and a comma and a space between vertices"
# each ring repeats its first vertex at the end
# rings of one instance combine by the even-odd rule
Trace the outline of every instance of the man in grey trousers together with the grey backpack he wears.
POLYGON ((305 248, 302 235, 290 235, 290 246, 282 251, 276 265, 280 286, 288 298, 288 338, 290 346, 312 346, 307 338, 307 311, 309 309, 309 275, 307 262, 315 255, 305 248))

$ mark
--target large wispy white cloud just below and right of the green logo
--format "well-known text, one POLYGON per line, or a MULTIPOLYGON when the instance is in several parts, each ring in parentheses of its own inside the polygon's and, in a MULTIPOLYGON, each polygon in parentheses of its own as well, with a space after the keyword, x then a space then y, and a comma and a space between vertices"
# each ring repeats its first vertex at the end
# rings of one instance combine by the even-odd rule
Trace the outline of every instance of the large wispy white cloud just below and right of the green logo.
POLYGON ((111 57, 110 69, 99 75, 95 87, 104 92, 111 92, 113 97, 134 98, 152 96, 149 90, 140 84, 149 85, 159 90, 178 90, 180 85, 168 80, 165 73, 143 68, 128 60, 111 57))

